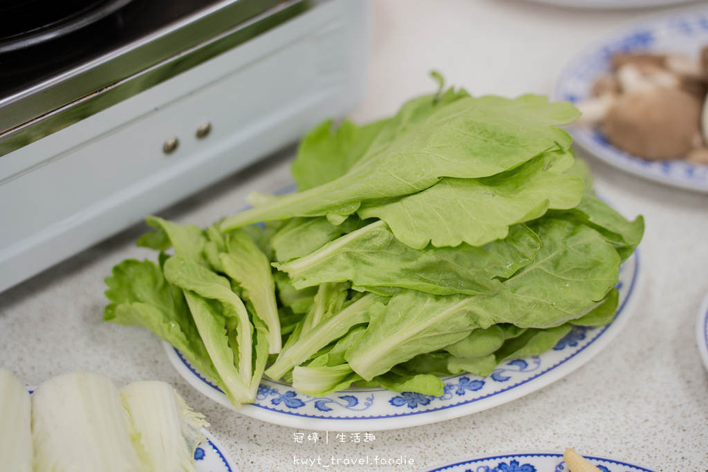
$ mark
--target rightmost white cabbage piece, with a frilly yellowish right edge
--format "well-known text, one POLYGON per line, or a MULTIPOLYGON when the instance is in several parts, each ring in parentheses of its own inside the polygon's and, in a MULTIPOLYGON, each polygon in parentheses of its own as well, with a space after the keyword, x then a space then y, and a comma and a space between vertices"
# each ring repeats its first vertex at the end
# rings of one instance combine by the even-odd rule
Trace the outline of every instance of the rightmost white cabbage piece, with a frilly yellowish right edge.
POLYGON ((120 397, 147 451, 146 471, 194 472, 194 451, 209 426, 170 384, 134 382, 120 388, 120 397))

